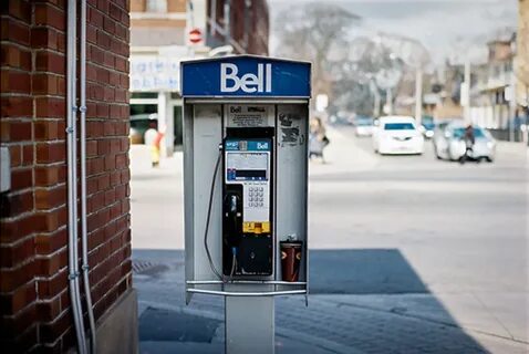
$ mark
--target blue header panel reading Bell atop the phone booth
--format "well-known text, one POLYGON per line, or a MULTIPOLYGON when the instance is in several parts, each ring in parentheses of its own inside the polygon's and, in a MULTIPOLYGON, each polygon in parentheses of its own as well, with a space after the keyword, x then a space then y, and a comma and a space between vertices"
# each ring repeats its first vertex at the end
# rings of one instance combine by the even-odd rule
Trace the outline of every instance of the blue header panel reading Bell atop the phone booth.
POLYGON ((252 55, 181 62, 181 94, 187 97, 310 97, 308 62, 252 55))

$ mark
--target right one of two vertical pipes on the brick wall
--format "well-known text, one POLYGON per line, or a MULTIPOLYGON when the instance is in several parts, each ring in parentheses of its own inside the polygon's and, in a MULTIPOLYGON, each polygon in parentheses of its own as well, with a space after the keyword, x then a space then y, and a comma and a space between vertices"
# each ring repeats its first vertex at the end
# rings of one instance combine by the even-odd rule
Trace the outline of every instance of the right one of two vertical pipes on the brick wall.
POLYGON ((80 107, 81 113, 80 124, 80 139, 81 139, 81 247, 83 264, 81 270, 83 272, 84 295, 86 300, 86 311, 89 313, 90 324, 90 352, 95 354, 96 339, 95 339, 95 321, 94 309, 92 306, 92 293, 90 290, 89 279, 89 236, 86 228, 86 0, 81 1, 81 38, 80 38, 81 53, 80 53, 80 107))

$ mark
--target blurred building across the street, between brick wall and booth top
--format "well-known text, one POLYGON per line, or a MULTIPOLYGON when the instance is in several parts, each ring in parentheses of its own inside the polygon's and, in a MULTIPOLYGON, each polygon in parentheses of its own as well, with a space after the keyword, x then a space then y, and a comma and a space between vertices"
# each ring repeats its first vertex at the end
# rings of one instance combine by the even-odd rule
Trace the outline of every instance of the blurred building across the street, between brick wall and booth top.
POLYGON ((155 118, 165 133, 163 153, 170 156, 183 138, 180 61, 231 53, 267 55, 268 35, 264 0, 132 0, 133 142, 142 142, 149 118, 155 118))

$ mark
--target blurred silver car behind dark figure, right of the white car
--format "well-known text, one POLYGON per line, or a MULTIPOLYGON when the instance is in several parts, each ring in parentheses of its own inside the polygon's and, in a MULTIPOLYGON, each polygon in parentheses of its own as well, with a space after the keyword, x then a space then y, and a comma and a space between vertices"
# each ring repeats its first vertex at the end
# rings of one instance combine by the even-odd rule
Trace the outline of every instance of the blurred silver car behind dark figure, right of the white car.
MULTIPOLYGON (((434 135, 434 150, 438 159, 459 160, 467 149, 465 125, 460 122, 447 124, 440 134, 434 135)), ((491 163, 496 156, 496 140, 487 129, 474 127, 475 143, 467 157, 491 163)))

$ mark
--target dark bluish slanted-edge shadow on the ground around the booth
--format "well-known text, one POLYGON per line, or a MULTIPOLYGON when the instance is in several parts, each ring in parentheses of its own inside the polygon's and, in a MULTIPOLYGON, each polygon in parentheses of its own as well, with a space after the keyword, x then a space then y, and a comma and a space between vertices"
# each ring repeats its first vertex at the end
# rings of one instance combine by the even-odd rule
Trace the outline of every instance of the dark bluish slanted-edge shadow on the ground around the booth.
MULTIPOLYGON (((141 272, 141 277, 135 273, 139 301, 167 299, 174 306, 185 308, 184 298, 176 295, 175 289, 164 288, 168 279, 175 280, 177 287, 184 287, 181 250, 134 250, 133 259, 135 271, 141 272), (158 267, 158 271, 148 275, 145 269, 154 266, 158 267), (162 285, 153 288, 149 281, 159 281, 162 285), (167 293, 154 294, 153 291, 167 293)), ((178 289, 180 292, 184 293, 184 289, 178 289)), ((309 300, 308 308, 303 301, 298 301, 300 298, 277 300, 278 330, 310 336, 314 343, 335 343, 342 348, 336 353, 349 353, 348 348, 355 353, 488 353, 457 326, 449 311, 431 293, 397 249, 311 250, 310 292, 314 300, 309 300), (443 320, 408 315, 407 310, 413 312, 414 309, 402 308, 401 294, 425 295, 421 300, 422 310, 431 310, 435 317, 443 320), (352 296, 348 299, 346 295, 352 296), (361 303, 355 303, 359 296, 362 298, 361 303), (381 296, 385 296, 385 304, 390 303, 391 310, 370 302, 381 296)), ((203 310, 208 310, 207 301, 199 301, 203 310)), ((220 311, 219 301, 211 301, 211 312, 222 314, 220 311)), ((179 311, 159 312, 155 308, 148 308, 139 317, 141 341, 151 347, 157 341, 160 345, 167 342, 188 345, 186 341, 190 341, 211 343, 215 348, 222 348, 221 343, 214 340, 214 333, 218 334, 219 327, 221 322, 218 319, 195 319, 179 311), (162 330, 156 329, 164 331, 160 333, 162 330)), ((294 346, 295 343, 300 346, 308 344, 302 344, 295 336, 286 341, 294 346)), ((201 347, 194 350, 201 351, 201 347)), ((278 352, 283 351, 278 347, 278 352)))

